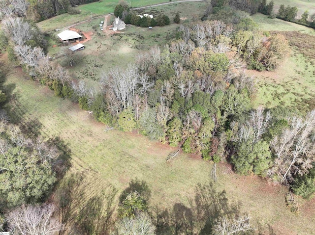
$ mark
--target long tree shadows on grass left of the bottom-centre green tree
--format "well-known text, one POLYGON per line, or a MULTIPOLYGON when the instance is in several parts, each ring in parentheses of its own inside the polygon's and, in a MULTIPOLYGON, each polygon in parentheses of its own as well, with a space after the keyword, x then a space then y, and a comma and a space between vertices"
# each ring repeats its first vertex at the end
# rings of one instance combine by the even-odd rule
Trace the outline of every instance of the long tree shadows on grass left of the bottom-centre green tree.
POLYGON ((70 174, 58 185, 54 203, 63 229, 59 235, 108 235, 114 227, 117 189, 110 184, 95 194, 82 173, 70 174), (94 196, 90 196, 93 191, 94 196))

